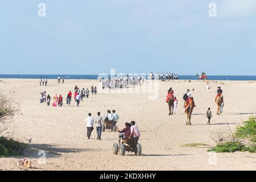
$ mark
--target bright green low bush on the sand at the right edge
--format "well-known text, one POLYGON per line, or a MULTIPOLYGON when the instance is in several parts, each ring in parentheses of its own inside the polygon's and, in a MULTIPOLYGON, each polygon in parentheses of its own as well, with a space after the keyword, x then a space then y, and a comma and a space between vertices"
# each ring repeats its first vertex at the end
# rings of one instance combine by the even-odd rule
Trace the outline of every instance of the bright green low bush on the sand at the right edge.
POLYGON ((215 147, 208 150, 214 152, 236 152, 247 151, 256 152, 256 117, 251 117, 244 122, 243 126, 237 127, 232 141, 218 143, 215 147), (241 140, 249 141, 249 144, 244 144, 241 140))

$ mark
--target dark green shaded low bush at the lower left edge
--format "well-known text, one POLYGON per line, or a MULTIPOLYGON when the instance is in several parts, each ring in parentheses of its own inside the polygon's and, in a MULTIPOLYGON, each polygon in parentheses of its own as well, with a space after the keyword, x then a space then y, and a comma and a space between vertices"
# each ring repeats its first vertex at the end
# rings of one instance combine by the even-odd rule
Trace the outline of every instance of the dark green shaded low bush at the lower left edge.
POLYGON ((21 155, 23 148, 27 148, 27 144, 0 137, 0 156, 21 155))

